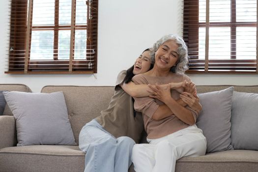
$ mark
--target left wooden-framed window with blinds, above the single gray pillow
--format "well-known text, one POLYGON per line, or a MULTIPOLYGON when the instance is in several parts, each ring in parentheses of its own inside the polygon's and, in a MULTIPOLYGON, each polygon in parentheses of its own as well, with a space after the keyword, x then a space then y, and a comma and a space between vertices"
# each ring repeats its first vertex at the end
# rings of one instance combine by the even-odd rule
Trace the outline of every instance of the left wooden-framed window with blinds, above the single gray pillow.
POLYGON ((98 0, 11 0, 8 74, 97 73, 98 0))

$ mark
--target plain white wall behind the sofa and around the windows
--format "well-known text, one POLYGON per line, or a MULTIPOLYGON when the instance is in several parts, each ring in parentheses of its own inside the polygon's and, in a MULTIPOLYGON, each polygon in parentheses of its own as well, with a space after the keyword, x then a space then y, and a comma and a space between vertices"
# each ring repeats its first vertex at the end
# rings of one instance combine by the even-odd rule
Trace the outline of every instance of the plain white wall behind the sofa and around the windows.
MULTIPOLYGON (((0 83, 21 83, 39 92, 46 85, 114 86, 143 49, 161 36, 181 34, 181 0, 99 0, 98 73, 13 75, 7 70, 8 1, 0 0, 0 83)), ((191 74, 197 85, 258 85, 258 75, 191 74)))

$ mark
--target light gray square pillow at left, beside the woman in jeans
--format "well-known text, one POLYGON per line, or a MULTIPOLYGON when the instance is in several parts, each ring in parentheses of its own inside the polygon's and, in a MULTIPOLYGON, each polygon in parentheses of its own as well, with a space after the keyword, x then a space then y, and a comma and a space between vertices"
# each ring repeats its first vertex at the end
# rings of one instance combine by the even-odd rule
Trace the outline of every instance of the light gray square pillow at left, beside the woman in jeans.
POLYGON ((3 94, 16 120, 17 146, 76 145, 63 92, 3 94))

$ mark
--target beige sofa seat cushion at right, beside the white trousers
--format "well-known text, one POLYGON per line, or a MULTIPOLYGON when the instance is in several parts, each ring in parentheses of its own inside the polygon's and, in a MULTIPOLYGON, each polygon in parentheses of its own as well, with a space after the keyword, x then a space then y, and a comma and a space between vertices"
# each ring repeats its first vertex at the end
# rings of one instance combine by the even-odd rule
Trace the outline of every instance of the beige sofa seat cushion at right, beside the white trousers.
POLYGON ((175 172, 257 172, 258 151, 227 150, 200 157, 183 157, 175 172))

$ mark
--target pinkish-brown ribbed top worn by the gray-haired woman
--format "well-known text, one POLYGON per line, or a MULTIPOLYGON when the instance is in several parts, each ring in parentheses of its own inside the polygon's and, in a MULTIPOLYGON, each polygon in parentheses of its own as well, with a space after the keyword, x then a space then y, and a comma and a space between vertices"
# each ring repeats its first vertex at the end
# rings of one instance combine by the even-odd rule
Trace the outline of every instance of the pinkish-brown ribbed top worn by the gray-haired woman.
MULTIPOLYGON (((139 74, 133 77, 132 81, 135 84, 168 84, 168 83, 179 83, 184 80, 190 81, 190 78, 184 74, 173 74, 172 77, 153 77, 144 74, 139 74)), ((177 100, 180 98, 179 92, 176 90, 171 91, 172 98, 177 100)), ((184 129, 189 125, 181 121, 176 115, 170 115, 160 120, 152 119, 152 115, 158 109, 160 105, 164 103, 150 97, 135 98, 134 108, 136 111, 142 112, 144 128, 147 133, 148 139, 157 139, 169 134, 172 134, 178 130, 184 129)), ((196 121, 198 113, 192 110, 189 106, 186 106, 189 109, 196 121)))

